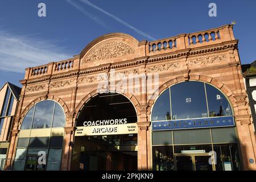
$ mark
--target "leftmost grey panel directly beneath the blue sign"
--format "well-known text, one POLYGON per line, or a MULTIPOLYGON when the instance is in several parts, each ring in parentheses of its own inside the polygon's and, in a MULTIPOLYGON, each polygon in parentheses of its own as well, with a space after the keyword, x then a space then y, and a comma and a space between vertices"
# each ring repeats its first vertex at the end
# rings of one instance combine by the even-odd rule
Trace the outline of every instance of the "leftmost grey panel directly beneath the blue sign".
POLYGON ((152 132, 152 144, 154 145, 166 145, 172 144, 172 132, 171 131, 159 131, 152 132))

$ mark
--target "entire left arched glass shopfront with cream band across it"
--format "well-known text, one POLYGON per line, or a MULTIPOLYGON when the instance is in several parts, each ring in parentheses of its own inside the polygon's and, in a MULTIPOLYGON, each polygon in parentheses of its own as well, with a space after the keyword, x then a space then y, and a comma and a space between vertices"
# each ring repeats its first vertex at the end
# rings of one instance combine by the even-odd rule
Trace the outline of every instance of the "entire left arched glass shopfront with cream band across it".
POLYGON ((64 110, 57 102, 45 100, 32 106, 20 126, 13 170, 60 170, 64 126, 64 110), (42 152, 46 155, 40 163, 42 152))

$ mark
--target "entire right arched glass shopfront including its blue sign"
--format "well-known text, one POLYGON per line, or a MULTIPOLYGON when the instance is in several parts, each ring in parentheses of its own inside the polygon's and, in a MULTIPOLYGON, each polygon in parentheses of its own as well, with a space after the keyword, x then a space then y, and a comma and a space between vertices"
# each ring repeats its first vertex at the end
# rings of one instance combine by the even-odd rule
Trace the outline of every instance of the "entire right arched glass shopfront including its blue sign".
POLYGON ((152 109, 152 164, 156 171, 241 169, 232 107, 213 86, 181 82, 152 109))

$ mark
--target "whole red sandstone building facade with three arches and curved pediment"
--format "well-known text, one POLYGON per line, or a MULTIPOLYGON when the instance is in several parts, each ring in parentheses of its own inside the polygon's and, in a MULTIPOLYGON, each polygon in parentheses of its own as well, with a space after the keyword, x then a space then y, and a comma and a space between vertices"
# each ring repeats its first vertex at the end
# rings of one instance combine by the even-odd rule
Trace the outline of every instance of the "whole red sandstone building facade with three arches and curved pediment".
POLYGON ((115 33, 93 40, 72 59, 27 68, 6 169, 255 170, 237 46, 231 25, 153 42, 115 33), (138 92, 112 86, 110 96, 102 93, 98 85, 109 84, 113 70, 123 77, 157 74, 158 92, 142 92, 140 78, 131 84, 138 92), (53 114, 42 113, 49 108, 53 114), (119 120, 108 125, 103 119, 119 120), (45 165, 36 164, 40 150, 46 151, 45 165))

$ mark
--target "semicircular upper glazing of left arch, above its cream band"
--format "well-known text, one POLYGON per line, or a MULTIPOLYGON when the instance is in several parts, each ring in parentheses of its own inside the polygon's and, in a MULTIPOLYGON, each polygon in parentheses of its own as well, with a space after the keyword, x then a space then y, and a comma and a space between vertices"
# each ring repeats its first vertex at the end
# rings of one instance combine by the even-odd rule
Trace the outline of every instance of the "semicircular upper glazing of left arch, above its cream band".
POLYGON ((46 129, 64 126, 65 114, 63 108, 55 101, 44 100, 28 110, 20 129, 46 129))

